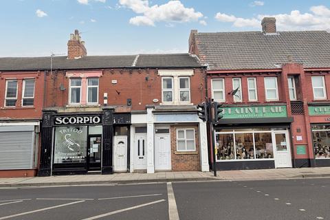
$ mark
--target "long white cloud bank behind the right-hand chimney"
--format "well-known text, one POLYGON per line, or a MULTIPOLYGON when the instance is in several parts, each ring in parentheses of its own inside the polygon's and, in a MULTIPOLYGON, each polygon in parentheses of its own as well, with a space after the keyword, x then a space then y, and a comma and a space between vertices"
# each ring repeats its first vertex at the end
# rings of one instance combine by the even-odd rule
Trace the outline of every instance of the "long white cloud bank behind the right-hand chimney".
POLYGON ((288 14, 259 14, 250 19, 235 17, 231 14, 218 12, 215 19, 232 23, 234 27, 261 28, 264 17, 275 17, 277 30, 330 30, 330 9, 324 5, 313 6, 310 12, 302 13, 292 10, 288 14))

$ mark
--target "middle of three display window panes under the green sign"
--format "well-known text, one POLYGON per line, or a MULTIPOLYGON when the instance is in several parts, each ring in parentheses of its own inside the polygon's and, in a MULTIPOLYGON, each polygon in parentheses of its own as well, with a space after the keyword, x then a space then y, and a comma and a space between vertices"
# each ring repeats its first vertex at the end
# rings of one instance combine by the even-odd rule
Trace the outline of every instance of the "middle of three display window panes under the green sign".
POLYGON ((236 159, 254 159, 252 133, 236 133, 236 159))

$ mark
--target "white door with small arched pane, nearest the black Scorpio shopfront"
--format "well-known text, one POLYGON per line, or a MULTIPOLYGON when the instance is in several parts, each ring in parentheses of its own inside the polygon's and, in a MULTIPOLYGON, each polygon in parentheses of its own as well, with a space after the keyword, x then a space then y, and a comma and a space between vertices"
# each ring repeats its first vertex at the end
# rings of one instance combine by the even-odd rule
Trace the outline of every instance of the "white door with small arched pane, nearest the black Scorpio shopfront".
POLYGON ((127 136, 120 135, 113 138, 113 164, 115 171, 127 171, 127 136))

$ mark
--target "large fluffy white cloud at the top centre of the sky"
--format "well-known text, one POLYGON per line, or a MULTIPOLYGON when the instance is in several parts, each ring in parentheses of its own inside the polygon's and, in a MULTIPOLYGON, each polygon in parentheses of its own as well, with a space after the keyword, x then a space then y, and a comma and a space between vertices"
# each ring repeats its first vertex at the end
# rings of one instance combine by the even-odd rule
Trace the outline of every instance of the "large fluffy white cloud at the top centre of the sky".
POLYGON ((156 22, 184 23, 198 21, 203 17, 201 12, 195 12, 194 8, 186 8, 181 1, 168 1, 163 5, 149 5, 148 0, 120 0, 120 5, 130 8, 137 14, 142 14, 130 19, 133 25, 155 26, 156 22))

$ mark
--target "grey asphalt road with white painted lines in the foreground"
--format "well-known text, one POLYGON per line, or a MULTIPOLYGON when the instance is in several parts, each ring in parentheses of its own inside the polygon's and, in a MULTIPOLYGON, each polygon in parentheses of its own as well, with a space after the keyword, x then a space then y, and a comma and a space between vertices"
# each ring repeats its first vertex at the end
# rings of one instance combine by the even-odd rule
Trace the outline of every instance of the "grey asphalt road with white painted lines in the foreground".
POLYGON ((330 219, 330 179, 0 188, 2 219, 330 219))

